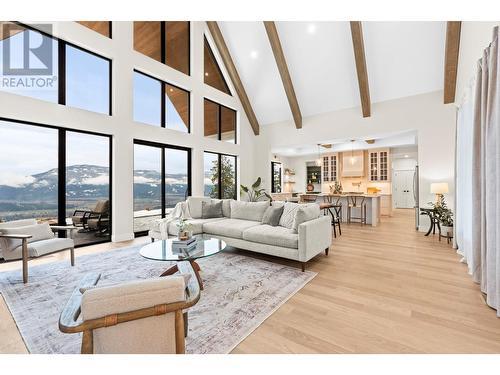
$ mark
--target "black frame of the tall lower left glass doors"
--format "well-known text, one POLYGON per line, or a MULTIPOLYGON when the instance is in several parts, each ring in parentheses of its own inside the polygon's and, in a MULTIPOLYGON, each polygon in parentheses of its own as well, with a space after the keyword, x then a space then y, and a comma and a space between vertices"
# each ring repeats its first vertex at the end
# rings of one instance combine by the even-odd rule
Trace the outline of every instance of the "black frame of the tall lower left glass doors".
MULTIPOLYGON (((64 128, 57 125, 49 125, 33 121, 25 121, 19 119, 11 119, 0 116, 0 121, 13 122, 21 125, 36 126, 40 128, 53 129, 58 131, 57 140, 57 225, 66 225, 66 134, 68 132, 81 133, 108 138, 109 142, 109 239, 102 239, 95 242, 75 245, 75 248, 97 245, 100 243, 111 242, 113 235, 113 137, 110 134, 102 134, 92 131, 64 128)), ((60 231, 60 237, 66 236, 66 231, 60 231)))

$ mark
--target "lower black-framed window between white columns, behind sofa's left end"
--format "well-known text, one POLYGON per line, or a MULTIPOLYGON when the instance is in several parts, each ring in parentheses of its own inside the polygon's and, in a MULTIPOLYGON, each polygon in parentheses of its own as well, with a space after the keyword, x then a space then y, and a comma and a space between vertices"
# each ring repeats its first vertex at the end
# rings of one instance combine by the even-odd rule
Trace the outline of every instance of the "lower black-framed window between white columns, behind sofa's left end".
POLYGON ((145 234, 191 191, 191 150, 151 142, 134 144, 134 232, 145 234))

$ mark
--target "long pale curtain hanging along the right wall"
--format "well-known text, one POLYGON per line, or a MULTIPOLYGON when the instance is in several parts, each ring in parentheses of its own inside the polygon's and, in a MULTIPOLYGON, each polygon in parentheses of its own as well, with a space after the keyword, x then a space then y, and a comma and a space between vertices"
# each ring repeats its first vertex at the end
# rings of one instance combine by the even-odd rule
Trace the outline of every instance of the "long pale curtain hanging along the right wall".
POLYGON ((497 309, 500 317, 498 34, 498 27, 495 27, 493 40, 478 63, 472 97, 458 113, 457 155, 460 156, 457 157, 460 159, 457 160, 456 233, 469 272, 486 293, 488 305, 497 309), (467 153, 471 154, 470 158, 467 153), (469 187, 470 195, 467 195, 469 187))

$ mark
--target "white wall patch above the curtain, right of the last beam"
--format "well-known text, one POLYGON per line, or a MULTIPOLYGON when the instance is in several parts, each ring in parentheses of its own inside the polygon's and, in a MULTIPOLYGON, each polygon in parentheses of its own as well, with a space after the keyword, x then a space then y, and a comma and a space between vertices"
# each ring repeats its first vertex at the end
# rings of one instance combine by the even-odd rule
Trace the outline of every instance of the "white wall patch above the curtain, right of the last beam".
POLYGON ((483 50, 491 43, 493 27, 499 25, 498 21, 462 22, 455 103, 462 103, 466 89, 476 74, 477 61, 483 56, 483 50))

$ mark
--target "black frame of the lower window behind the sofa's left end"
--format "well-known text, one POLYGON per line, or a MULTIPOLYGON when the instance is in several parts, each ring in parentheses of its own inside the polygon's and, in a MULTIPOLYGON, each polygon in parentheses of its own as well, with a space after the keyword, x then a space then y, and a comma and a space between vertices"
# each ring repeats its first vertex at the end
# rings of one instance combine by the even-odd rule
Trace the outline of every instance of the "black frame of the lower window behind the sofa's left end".
MULTIPOLYGON (((133 145, 140 145, 140 146, 147 146, 147 147, 155 147, 160 149, 161 151, 161 161, 160 161, 160 178, 161 178, 161 217, 165 218, 166 216, 166 194, 165 194, 165 150, 166 149, 171 149, 171 150, 181 150, 181 151, 187 151, 187 158, 188 158, 188 170, 187 170, 187 175, 188 175, 188 188, 186 191, 186 198, 191 195, 192 192, 192 157, 193 157, 193 150, 189 147, 183 147, 183 146, 177 146, 177 145, 170 145, 170 144, 165 144, 165 143, 160 143, 160 142, 152 142, 152 141, 146 141, 143 139, 137 139, 135 138, 133 141, 133 145)), ((134 164, 135 164, 135 151, 134 151, 134 164)), ((133 172, 135 171, 135 165, 133 167, 133 172)), ((134 182, 132 182, 132 189, 133 189, 134 182)), ((134 198, 133 198, 134 199, 134 198)), ((133 203, 132 203, 133 205, 133 203)), ((146 236, 148 234, 148 231, 139 231, 136 232, 134 231, 134 237, 142 237, 146 236)))

